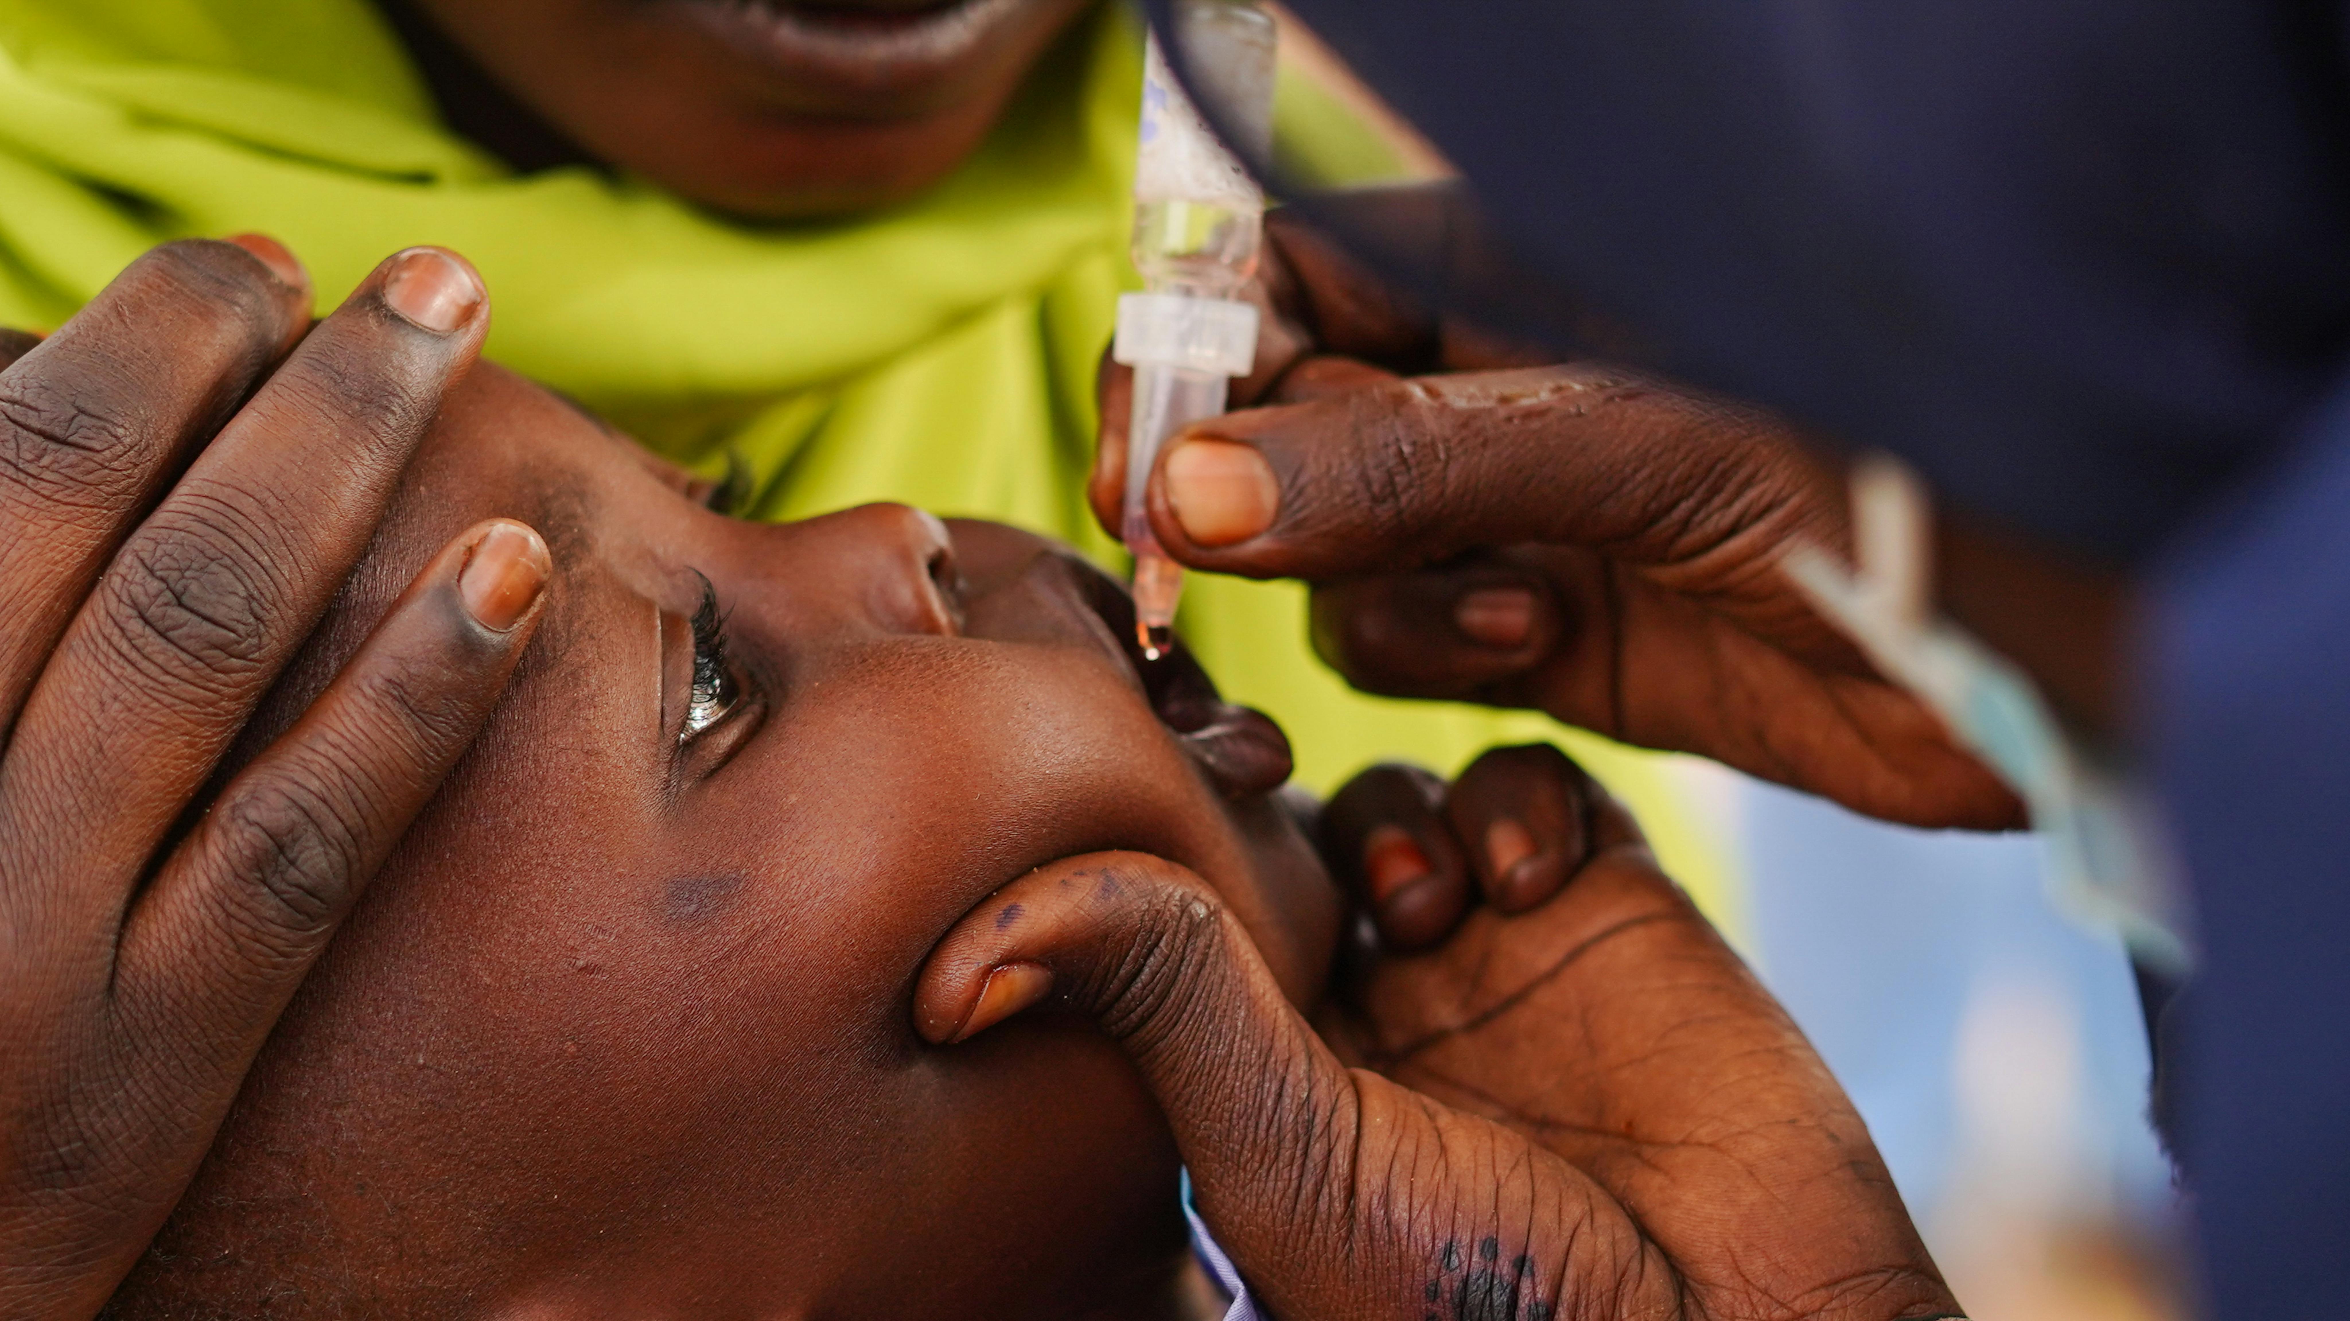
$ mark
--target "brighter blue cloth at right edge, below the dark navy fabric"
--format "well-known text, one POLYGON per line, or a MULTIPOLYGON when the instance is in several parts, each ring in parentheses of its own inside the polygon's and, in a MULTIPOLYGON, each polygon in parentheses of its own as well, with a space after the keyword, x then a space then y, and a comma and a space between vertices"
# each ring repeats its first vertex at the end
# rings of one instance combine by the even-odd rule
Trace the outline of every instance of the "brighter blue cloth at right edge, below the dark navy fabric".
POLYGON ((2341 1316, 2350 1246, 2350 390, 2181 541, 2153 740, 2195 877, 2178 1140, 2218 1314, 2341 1316))

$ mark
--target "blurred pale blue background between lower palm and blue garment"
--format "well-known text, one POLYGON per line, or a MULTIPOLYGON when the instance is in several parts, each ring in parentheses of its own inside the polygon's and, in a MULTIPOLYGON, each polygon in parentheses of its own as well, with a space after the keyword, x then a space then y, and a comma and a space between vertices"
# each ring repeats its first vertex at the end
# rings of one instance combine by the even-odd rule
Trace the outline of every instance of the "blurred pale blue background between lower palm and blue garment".
POLYGON ((1969 1314, 2186 1319, 2129 961, 2052 907, 2037 839, 1882 825, 1711 762, 1673 778, 1725 844, 1727 926, 1868 1119, 1969 1314))

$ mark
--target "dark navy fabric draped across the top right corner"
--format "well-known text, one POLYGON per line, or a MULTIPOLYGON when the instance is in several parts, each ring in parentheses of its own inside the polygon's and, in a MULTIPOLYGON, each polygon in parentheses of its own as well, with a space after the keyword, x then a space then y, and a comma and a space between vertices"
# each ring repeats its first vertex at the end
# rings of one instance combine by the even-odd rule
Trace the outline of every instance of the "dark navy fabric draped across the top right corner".
POLYGON ((2059 545, 2146 555, 2350 355, 2338 2, 1290 7, 1560 327, 2059 545))

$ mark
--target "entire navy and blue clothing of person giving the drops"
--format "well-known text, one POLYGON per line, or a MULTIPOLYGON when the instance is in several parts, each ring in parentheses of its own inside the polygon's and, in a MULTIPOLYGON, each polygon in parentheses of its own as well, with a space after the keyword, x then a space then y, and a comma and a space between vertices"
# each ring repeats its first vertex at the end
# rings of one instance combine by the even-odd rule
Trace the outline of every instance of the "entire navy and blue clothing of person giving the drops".
MULTIPOLYGON (((2338 1316, 2343 0, 1288 2, 1462 167, 1513 256, 1488 289, 2160 564, 2146 738, 2204 943, 2160 1069, 2209 1297, 2338 1316)), ((1394 214, 1398 247, 1471 247, 1394 214)))

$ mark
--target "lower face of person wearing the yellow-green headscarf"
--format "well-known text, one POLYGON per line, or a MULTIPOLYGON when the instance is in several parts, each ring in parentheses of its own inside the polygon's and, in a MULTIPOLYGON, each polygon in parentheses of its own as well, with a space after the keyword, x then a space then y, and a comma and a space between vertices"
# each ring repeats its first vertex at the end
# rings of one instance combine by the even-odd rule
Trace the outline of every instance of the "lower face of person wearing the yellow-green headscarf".
POLYGON ((909 197, 1090 0, 407 0, 597 160, 752 216, 909 197))

